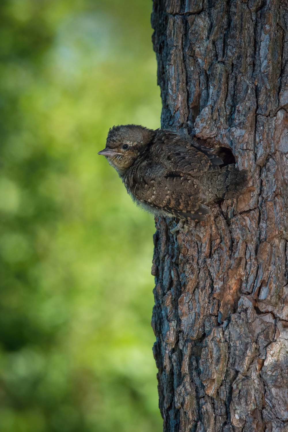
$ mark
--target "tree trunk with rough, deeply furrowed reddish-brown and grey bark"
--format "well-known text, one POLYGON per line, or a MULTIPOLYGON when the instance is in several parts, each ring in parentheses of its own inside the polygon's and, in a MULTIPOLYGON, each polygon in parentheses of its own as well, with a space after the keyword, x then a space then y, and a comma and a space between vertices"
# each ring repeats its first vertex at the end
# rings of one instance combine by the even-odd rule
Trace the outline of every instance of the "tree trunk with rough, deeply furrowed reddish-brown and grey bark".
POLYGON ((251 173, 187 234, 156 219, 164 430, 288 431, 288 0, 154 0, 152 27, 162 127, 251 173))

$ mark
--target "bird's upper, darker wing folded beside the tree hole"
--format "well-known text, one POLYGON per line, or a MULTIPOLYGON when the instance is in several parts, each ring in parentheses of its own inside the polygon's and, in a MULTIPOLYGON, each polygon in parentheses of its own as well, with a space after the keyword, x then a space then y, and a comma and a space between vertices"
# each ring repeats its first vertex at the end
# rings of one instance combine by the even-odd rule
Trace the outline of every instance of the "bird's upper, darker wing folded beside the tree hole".
POLYGON ((192 143, 177 135, 165 134, 154 143, 152 152, 156 161, 165 165, 168 172, 201 175, 216 171, 223 163, 208 147, 192 143))

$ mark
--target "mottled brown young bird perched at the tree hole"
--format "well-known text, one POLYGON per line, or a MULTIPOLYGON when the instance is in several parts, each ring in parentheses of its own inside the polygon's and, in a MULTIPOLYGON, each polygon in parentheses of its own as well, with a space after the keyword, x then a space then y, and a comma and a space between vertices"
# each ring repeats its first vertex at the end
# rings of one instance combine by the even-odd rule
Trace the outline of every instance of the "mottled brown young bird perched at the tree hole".
POLYGON ((142 209, 180 219, 175 233, 189 219, 206 221, 210 203, 238 197, 246 186, 246 171, 224 165, 202 143, 171 130, 126 124, 109 129, 98 155, 116 169, 142 209))

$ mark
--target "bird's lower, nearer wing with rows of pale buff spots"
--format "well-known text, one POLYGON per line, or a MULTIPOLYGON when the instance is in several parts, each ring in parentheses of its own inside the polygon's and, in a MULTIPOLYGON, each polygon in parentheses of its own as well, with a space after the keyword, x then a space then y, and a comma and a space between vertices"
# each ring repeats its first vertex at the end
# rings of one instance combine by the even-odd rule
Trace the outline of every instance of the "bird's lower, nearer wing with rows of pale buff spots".
POLYGON ((181 219, 206 220, 210 209, 205 205, 207 198, 201 193, 202 187, 195 178, 186 177, 146 177, 127 188, 128 192, 157 210, 181 219))

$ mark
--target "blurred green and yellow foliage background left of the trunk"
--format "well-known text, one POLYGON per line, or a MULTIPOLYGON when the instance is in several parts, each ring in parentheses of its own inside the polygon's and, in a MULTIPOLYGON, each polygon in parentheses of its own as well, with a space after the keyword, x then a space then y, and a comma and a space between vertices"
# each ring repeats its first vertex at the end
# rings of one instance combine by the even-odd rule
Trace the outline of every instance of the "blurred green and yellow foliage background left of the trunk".
POLYGON ((156 432, 152 216, 97 152, 160 126, 150 0, 0 4, 0 432, 156 432))

